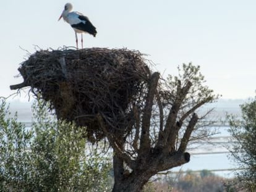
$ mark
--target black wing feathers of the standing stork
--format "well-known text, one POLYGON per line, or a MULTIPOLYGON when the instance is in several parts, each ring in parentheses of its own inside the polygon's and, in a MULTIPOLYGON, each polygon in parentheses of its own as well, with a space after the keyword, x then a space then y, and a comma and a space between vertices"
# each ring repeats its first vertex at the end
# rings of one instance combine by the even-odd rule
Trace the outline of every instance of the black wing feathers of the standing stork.
POLYGON ((80 23, 77 23, 77 24, 74 24, 74 25, 71 25, 71 26, 74 27, 74 28, 77 28, 78 30, 86 31, 87 33, 89 33, 93 36, 96 36, 96 33, 97 33, 96 27, 93 26, 93 24, 90 22, 88 17, 86 17, 84 15, 79 15, 79 19, 82 20, 82 21, 85 21, 85 23, 80 22, 80 23))

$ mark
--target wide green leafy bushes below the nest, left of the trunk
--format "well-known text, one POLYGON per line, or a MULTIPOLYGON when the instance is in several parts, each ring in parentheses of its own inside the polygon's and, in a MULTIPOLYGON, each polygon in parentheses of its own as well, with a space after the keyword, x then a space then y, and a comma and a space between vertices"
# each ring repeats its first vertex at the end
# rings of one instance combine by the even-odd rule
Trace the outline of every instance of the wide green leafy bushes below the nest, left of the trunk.
POLYGON ((0 101, 0 191, 109 191, 110 163, 74 123, 33 104, 31 128, 0 101))

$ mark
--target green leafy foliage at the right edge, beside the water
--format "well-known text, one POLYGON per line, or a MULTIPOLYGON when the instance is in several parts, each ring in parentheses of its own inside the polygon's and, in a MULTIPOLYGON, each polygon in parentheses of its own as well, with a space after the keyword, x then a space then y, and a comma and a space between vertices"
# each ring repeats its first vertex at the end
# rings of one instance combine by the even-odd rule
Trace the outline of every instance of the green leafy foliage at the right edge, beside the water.
POLYGON ((241 170, 236 172, 236 184, 256 191, 256 97, 241 106, 241 118, 228 115, 229 132, 233 136, 231 159, 241 170))

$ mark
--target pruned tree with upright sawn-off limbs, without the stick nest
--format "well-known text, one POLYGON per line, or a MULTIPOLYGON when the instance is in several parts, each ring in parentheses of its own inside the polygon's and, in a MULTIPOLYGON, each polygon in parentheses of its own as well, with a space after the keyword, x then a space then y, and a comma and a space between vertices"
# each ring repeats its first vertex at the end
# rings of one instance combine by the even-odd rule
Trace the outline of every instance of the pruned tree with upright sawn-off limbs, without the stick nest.
MULTIPOLYGON (((114 149, 113 191, 140 191, 150 177, 158 172, 185 164, 190 160, 186 151, 198 117, 198 108, 218 96, 203 85, 200 67, 183 65, 178 77, 160 80, 155 72, 148 82, 147 94, 132 106, 132 129, 116 134, 105 128, 103 115, 98 121, 114 149)), ((208 135, 198 131, 193 140, 208 135)))

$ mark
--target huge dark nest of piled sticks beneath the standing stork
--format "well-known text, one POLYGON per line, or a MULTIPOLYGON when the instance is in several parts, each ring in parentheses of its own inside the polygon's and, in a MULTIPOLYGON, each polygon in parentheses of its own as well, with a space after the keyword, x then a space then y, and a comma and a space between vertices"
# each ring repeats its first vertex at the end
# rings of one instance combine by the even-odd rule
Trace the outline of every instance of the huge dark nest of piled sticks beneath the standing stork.
MULTIPOLYGON (((141 97, 138 94, 150 78, 139 51, 106 48, 37 51, 23 62, 19 72, 24 82, 12 85, 12 90, 30 86, 36 96, 51 103, 59 119, 87 127, 92 142, 104 137, 96 114, 127 123, 122 122, 127 117, 122 117, 128 114, 131 102, 141 97)), ((113 132, 112 128, 108 131, 113 132)))

